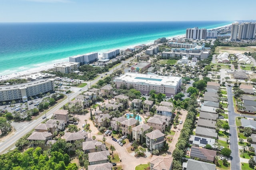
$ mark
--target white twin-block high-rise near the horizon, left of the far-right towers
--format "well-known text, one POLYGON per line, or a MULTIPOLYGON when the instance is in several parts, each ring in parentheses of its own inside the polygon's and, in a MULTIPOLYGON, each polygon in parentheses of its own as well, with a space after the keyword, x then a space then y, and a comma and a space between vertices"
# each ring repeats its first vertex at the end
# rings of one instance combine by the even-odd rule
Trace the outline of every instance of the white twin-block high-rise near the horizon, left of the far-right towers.
POLYGON ((186 38, 188 39, 206 39, 207 29, 198 27, 186 29, 186 38))

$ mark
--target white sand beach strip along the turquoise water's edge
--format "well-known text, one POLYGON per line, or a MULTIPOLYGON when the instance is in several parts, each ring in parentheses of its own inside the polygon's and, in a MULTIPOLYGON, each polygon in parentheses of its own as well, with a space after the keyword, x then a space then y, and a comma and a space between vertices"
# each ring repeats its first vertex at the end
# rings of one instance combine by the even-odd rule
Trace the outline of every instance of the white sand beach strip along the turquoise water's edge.
MULTIPOLYGON (((212 28, 212 29, 224 28, 224 27, 230 26, 231 24, 232 23, 230 23, 228 25, 212 28)), ((212 29, 208 29, 208 30, 212 30, 212 29)), ((184 38, 185 36, 186 36, 186 34, 174 35, 171 37, 166 37, 166 39, 173 39, 173 38, 180 39, 180 38, 184 38)), ((152 44, 154 44, 154 40, 152 40, 152 41, 149 40, 147 43, 140 43, 140 44, 152 45, 152 44)), ((140 45, 140 44, 137 44, 137 45, 140 45)), ((136 46, 136 45, 129 45, 126 48, 122 48, 122 49, 132 48, 134 46, 136 46)), ((118 49, 118 48, 116 48, 116 49, 118 49)), ((102 53, 104 53, 105 51, 109 51, 109 50, 106 50, 106 49, 100 50, 100 51, 98 51, 98 55, 102 56, 102 53)), ((80 55, 82 55, 82 54, 80 54, 80 55)), ((72 57, 72 56, 70 56, 70 57, 72 57)), ((0 80, 9 80, 9 79, 13 79, 13 78, 27 76, 30 74, 44 71, 44 70, 52 69, 52 68, 54 68, 54 65, 56 65, 56 64, 62 64, 62 63, 67 63, 67 62, 69 62, 69 57, 64 58, 64 59, 50 61, 49 63, 44 62, 44 63, 40 63, 40 64, 35 64, 34 65, 35 68, 30 68, 30 69, 27 69, 28 67, 26 67, 26 66, 22 66, 22 67, 20 67, 20 70, 18 70, 18 69, 12 70, 12 73, 10 73, 10 74, 4 74, 4 72, 10 72, 11 70, 4 70, 2 73, 0 72, 0 80)))

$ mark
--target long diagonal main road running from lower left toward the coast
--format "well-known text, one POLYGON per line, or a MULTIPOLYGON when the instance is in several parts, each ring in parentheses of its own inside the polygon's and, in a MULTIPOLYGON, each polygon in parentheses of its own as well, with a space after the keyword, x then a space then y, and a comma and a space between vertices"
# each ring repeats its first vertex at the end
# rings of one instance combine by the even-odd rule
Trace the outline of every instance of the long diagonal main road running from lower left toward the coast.
MULTIPOLYGON (((130 59, 127 59, 126 61, 122 61, 122 63, 128 63, 130 62, 130 60, 134 59, 134 57, 130 58, 130 59)), ((98 78, 96 78, 95 80, 92 80, 91 82, 87 82, 88 83, 88 86, 89 86, 89 83, 91 85, 93 84, 96 84, 96 82, 98 82, 98 80, 102 79, 101 76, 104 77, 104 75, 107 73, 108 75, 111 74, 114 69, 118 69, 118 68, 121 68, 122 64, 116 66, 115 68, 112 68, 110 71, 108 72, 105 72, 105 73, 102 73, 100 74, 100 76, 98 78)), ((86 91, 88 90, 88 86, 85 86, 82 88, 81 91, 86 91)), ((60 109, 64 104, 68 103, 69 100, 71 100, 72 98, 74 98, 75 96, 77 96, 78 94, 80 94, 80 91, 78 92, 74 92, 72 94, 68 94, 68 98, 65 99, 64 101, 62 101, 60 104, 58 104, 57 106, 55 106, 54 108, 50 109, 50 111, 48 111, 46 113, 46 118, 50 118, 52 117, 53 113, 60 109)), ((6 153, 8 152, 8 150, 10 149, 14 149, 15 148, 15 143, 20 139, 22 138, 24 135, 26 135, 27 133, 29 133, 30 131, 32 131, 32 129, 34 129, 37 125, 39 125, 43 119, 42 117, 45 116, 45 114, 42 114, 40 117, 38 117, 38 119, 35 119, 33 121, 30 121, 30 122, 27 122, 25 123, 24 125, 22 125, 22 127, 20 127, 18 129, 18 131, 15 132, 15 134, 6 139, 6 141, 0 143, 0 154, 3 154, 3 153, 6 153)))

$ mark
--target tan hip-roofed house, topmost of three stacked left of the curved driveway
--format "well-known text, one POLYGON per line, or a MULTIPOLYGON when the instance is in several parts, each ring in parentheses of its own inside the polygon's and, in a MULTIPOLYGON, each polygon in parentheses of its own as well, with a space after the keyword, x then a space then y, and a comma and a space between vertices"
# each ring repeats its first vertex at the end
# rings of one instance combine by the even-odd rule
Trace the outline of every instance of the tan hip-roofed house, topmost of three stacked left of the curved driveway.
POLYGON ((100 152, 106 150, 106 145, 99 141, 86 141, 82 143, 84 153, 100 152))

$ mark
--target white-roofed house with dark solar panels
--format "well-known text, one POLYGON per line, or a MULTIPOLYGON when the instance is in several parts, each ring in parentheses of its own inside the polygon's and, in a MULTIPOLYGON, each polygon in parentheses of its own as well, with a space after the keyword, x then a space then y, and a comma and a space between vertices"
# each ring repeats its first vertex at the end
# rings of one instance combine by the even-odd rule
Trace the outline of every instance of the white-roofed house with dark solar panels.
POLYGON ((207 144, 211 145, 214 148, 215 139, 212 138, 204 138, 196 135, 191 135, 189 138, 189 143, 195 147, 205 147, 207 144))

